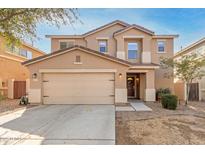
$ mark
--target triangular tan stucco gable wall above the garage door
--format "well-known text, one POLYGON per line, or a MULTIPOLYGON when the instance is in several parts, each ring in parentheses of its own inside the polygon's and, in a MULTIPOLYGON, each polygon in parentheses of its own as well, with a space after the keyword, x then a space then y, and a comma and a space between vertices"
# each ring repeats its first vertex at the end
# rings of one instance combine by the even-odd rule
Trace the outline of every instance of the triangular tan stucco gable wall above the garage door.
POLYGON ((128 68, 125 64, 111 61, 104 57, 84 52, 79 49, 63 53, 42 61, 28 65, 28 68, 35 69, 109 69, 109 68, 128 68), (81 62, 76 63, 76 56, 80 56, 81 62))

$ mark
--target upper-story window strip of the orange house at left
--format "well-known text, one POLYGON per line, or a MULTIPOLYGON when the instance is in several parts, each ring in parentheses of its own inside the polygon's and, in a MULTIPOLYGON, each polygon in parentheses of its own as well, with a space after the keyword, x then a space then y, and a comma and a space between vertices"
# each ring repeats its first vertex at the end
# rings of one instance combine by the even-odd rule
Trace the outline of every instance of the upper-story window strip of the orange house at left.
POLYGON ((12 53, 12 54, 15 54, 15 55, 25 57, 27 59, 32 59, 32 52, 31 51, 28 51, 28 50, 23 49, 23 48, 18 48, 14 45, 7 45, 7 51, 12 53))

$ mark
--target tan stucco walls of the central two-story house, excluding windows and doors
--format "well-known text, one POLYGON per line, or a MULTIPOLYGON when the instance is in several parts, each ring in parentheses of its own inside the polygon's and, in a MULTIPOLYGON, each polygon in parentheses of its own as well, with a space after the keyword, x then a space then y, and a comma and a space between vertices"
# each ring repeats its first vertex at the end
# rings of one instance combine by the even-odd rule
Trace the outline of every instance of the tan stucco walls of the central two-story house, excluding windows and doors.
MULTIPOLYGON (((174 91, 173 78, 167 79, 164 77, 164 70, 159 69, 160 57, 173 56, 173 39, 176 35, 155 35, 154 32, 136 25, 125 24, 120 21, 114 21, 111 24, 102 26, 91 32, 78 35, 50 35, 51 38, 51 52, 58 53, 60 50, 60 41, 74 41, 75 45, 86 47, 88 50, 92 49, 99 51, 99 40, 107 41, 108 52, 105 53, 113 58, 122 59, 130 62, 129 65, 119 63, 106 59, 103 56, 86 52, 81 48, 75 47, 72 51, 65 52, 56 56, 48 56, 38 61, 28 62, 27 67, 30 70, 30 78, 32 74, 37 73, 38 78, 31 80, 31 94, 32 97, 36 95, 39 98, 38 103, 42 103, 42 75, 40 69, 52 70, 116 70, 115 73, 115 103, 127 102, 127 73, 138 73, 140 76, 140 99, 145 101, 155 101, 155 92, 158 88, 170 88, 174 91), (164 53, 157 52, 157 41, 165 41, 164 53), (136 60, 130 61, 127 57, 128 42, 137 42, 139 46, 139 57, 136 60), (82 63, 76 64, 75 57, 80 56, 82 63), (155 67, 154 67, 155 65, 155 67), (121 77, 119 77, 121 74, 121 77), (38 96, 37 96, 38 95, 38 96), (40 95, 40 96, 39 96, 40 95)), ((86 50, 86 49, 85 49, 86 50)), ((58 71, 59 73, 59 71, 58 71)))

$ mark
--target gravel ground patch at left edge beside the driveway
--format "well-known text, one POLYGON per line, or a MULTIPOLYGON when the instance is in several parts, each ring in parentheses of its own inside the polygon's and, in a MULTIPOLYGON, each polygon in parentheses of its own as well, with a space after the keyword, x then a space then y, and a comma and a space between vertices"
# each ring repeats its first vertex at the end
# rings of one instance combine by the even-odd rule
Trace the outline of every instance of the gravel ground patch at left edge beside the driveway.
POLYGON ((18 110, 21 108, 30 108, 36 105, 19 105, 18 99, 5 99, 0 101, 0 115, 18 110))

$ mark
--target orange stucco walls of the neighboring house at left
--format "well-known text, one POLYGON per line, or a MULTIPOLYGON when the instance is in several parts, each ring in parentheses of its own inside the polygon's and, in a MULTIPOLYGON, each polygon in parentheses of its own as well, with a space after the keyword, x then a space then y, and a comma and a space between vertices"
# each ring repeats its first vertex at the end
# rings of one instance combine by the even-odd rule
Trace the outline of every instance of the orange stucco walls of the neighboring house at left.
MULTIPOLYGON (((26 43, 23 43, 19 47, 32 52, 33 58, 45 54, 26 43)), ((9 91, 12 93, 12 88, 9 89, 9 80, 25 81, 29 78, 28 69, 21 64, 26 60, 23 56, 9 52, 5 40, 2 37, 0 38, 0 92, 5 96, 8 95, 9 91)))

